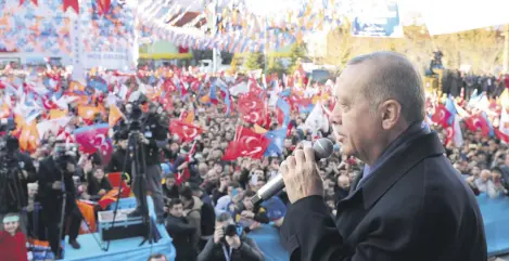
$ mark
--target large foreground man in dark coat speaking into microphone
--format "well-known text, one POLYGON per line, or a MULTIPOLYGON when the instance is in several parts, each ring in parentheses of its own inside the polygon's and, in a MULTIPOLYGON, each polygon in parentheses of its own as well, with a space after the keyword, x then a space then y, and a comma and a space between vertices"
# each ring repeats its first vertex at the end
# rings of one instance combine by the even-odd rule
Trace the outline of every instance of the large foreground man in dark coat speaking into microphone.
POLYGON ((486 260, 475 197, 423 123, 424 91, 412 64, 393 52, 359 56, 333 94, 330 119, 342 153, 366 167, 332 218, 313 149, 281 164, 292 203, 281 229, 290 259, 486 260))

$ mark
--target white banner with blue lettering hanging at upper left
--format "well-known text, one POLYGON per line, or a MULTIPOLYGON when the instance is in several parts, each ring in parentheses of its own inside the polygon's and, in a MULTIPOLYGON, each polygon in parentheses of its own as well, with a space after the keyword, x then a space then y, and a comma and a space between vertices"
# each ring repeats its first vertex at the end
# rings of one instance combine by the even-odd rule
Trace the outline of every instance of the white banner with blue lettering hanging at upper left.
MULTIPOLYGON (((79 26, 73 28, 81 36, 79 63, 84 69, 101 66, 105 69, 128 70, 136 67, 138 39, 136 6, 124 0, 113 0, 103 11, 88 0, 80 12, 79 26)), ((79 39, 73 39, 78 40, 79 39)), ((73 45, 75 45, 73 43, 73 45)), ((77 66, 77 64, 75 64, 77 66)))

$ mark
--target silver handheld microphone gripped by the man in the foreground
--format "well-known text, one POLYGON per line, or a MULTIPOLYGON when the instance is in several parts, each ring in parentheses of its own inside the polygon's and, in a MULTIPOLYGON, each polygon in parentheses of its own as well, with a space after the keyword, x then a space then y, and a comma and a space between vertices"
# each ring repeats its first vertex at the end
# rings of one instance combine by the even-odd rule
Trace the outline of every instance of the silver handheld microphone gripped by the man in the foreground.
MULTIPOLYGON (((328 158, 332 155, 332 152, 334 151, 334 144, 331 140, 322 138, 313 144, 313 151, 315 151, 316 160, 328 158)), ((281 173, 278 173, 275 178, 269 180, 267 184, 262 186, 258 192, 256 192, 256 195, 251 198, 251 203, 253 205, 256 205, 264 200, 267 200, 273 195, 278 194, 283 188, 283 177, 281 175, 281 173)))

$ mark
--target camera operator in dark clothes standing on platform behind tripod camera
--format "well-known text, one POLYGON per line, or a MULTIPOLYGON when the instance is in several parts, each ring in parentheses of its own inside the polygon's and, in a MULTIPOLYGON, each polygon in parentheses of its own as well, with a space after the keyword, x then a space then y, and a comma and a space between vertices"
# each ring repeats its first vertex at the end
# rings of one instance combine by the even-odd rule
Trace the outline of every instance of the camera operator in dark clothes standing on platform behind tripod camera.
MULTIPOLYGON (((167 141, 166 134, 168 133, 168 127, 162 126, 160 117, 156 114, 156 105, 150 104, 149 113, 143 115, 140 119, 141 130, 139 132, 140 146, 144 153, 144 161, 147 164, 145 178, 147 188, 151 192, 152 199, 154 200, 156 223, 164 223, 164 196, 162 186, 162 170, 161 170, 161 148, 163 148, 167 141)), ((135 114, 135 113, 133 113, 135 114)), ((131 132, 132 134, 132 132, 131 132)), ((130 144, 129 144, 130 145, 130 144)), ((132 160, 133 161, 133 160, 132 160)), ((140 162, 141 164, 141 162, 140 162)), ((138 217, 142 213, 141 211, 141 197, 144 192, 141 192, 140 184, 137 184, 140 180, 137 178, 135 161, 132 162, 132 180, 133 180, 133 193, 137 198, 138 207, 135 211, 129 213, 129 217, 138 217)))

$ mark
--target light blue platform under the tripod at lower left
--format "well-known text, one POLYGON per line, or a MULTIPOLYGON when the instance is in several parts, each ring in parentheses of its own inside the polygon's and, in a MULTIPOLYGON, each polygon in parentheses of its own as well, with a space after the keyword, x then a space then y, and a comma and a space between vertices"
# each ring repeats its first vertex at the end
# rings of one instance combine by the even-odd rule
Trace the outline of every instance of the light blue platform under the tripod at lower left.
MULTIPOLYGON (((152 199, 148 197, 149 211, 151 218, 155 217, 154 206, 152 199)), ((136 199, 133 197, 122 198, 118 205, 119 209, 128 209, 136 207, 136 199)), ((114 206, 113 206, 114 208, 114 206)), ((166 232, 163 224, 156 225, 157 232, 161 235, 161 239, 157 243, 150 245, 148 242, 144 245, 139 246, 143 240, 142 237, 131 237, 118 240, 112 240, 110 243, 110 250, 103 251, 98 246, 92 234, 85 234, 78 236, 78 242, 81 245, 81 249, 75 250, 69 245, 65 245, 64 259, 65 261, 147 261, 147 259, 153 253, 163 253, 168 260, 174 261, 176 257, 176 250, 171 244, 171 237, 166 232)), ((93 233, 96 238, 105 246, 106 243, 101 242, 99 233, 93 233)), ((67 239, 66 239, 67 242, 67 239)))

